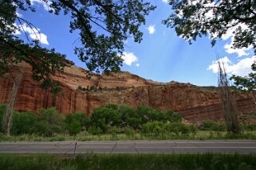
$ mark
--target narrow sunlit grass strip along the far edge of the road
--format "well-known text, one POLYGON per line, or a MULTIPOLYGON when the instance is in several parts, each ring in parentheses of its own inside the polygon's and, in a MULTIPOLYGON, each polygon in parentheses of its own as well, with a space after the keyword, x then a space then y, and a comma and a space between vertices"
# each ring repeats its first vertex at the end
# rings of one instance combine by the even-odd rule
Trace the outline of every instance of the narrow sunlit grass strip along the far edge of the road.
POLYGON ((0 141, 137 141, 137 140, 256 140, 256 131, 244 132, 240 135, 227 134, 226 132, 213 133, 212 131, 199 131, 195 136, 149 136, 135 133, 128 136, 124 133, 92 135, 88 133, 78 133, 76 136, 69 134, 55 134, 53 137, 42 137, 38 135, 23 134, 19 136, 6 137, 0 134, 0 141))

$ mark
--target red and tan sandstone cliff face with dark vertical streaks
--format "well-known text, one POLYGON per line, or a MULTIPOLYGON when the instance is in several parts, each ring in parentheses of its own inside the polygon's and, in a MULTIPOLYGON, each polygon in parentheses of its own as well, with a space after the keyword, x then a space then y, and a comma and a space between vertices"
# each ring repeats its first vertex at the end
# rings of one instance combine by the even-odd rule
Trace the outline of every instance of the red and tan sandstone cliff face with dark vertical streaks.
MULTIPOLYGON (((38 111, 56 106, 62 114, 83 111, 91 115, 96 106, 125 103, 134 107, 148 105, 161 110, 175 110, 193 122, 215 120, 223 114, 217 91, 203 90, 191 84, 157 83, 128 72, 89 74, 82 68, 72 66, 65 68, 64 73, 53 76, 62 87, 61 93, 53 98, 49 90, 41 89, 33 81, 28 64, 21 64, 20 68, 24 70, 24 77, 15 102, 15 109, 19 111, 38 111), (94 87, 96 91, 81 91, 79 86, 94 87)), ((13 79, 0 79, 0 103, 8 102, 12 85, 13 79)), ((239 93, 235 96, 240 112, 256 110, 252 95, 239 93)))

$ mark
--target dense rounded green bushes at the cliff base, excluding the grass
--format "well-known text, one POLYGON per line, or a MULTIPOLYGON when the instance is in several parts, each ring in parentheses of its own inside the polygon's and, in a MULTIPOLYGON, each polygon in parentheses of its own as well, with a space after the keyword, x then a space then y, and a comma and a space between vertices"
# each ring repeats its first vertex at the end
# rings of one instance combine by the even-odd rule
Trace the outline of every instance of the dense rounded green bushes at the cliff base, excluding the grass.
MULTIPOLYGON (((0 118, 6 106, 0 106, 0 118)), ((39 114, 34 112, 14 112, 11 134, 38 134, 45 137, 54 133, 69 133, 76 135, 81 131, 92 134, 111 133, 114 129, 146 130, 149 126, 163 126, 172 122, 181 122, 179 114, 171 110, 155 110, 148 106, 139 106, 133 109, 127 105, 108 104, 93 110, 92 118, 87 114, 76 112, 73 114, 59 114, 56 108, 41 109, 39 114)), ((1 129, 2 130, 2 129, 1 129)))

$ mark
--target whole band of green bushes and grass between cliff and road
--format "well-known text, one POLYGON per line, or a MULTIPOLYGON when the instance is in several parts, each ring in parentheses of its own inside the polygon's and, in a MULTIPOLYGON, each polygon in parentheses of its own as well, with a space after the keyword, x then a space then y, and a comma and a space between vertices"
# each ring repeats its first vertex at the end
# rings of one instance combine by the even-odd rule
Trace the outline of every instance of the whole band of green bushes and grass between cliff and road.
MULTIPOLYGON (((6 106, 0 105, 0 121, 6 106)), ((243 129, 256 130, 254 125, 243 129)), ((0 127, 2 132, 2 127, 0 127)), ((56 108, 34 112, 14 111, 12 137, 1 141, 89 141, 89 140, 143 140, 143 139, 256 139, 253 133, 226 134, 226 126, 214 121, 186 125, 179 114, 171 110, 156 110, 149 106, 136 109, 127 105, 108 104, 93 110, 93 116, 76 112, 60 114, 56 108)))

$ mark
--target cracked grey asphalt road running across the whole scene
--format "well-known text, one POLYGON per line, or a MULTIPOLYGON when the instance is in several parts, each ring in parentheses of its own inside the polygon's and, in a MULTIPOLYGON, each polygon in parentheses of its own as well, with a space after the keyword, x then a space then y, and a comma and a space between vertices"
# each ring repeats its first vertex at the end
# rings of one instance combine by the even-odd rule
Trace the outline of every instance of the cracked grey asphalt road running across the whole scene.
POLYGON ((256 153, 256 141, 0 142, 0 153, 256 153))

